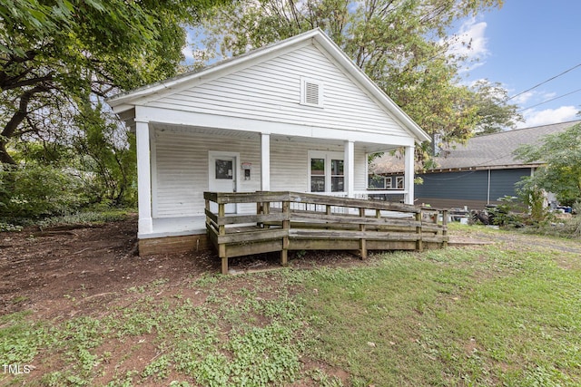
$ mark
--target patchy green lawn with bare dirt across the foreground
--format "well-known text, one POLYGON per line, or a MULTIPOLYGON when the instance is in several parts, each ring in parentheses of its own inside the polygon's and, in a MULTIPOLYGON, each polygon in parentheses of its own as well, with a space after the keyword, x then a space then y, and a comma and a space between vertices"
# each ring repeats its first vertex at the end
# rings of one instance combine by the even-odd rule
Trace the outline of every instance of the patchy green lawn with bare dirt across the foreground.
MULTIPOLYGON (((366 266, 161 278, 52 322, 0 319, 0 383, 581 384, 581 260, 558 239, 391 253, 366 266)), ((71 303, 78 302, 71 300, 71 303)))

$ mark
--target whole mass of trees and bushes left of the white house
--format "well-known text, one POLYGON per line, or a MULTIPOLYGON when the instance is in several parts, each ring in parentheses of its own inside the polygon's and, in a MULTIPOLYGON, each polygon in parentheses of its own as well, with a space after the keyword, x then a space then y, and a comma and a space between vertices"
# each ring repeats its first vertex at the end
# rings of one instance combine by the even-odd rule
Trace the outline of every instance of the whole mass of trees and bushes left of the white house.
POLYGON ((175 75, 185 27, 225 1, 0 0, 0 223, 132 205, 132 135, 103 98, 175 75))

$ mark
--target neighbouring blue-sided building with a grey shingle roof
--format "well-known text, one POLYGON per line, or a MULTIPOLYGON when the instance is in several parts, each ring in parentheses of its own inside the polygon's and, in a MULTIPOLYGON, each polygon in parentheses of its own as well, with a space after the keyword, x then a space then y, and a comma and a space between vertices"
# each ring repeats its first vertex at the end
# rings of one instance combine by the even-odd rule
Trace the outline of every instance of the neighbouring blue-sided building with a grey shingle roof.
MULTIPOLYGON (((465 145, 442 150, 441 156, 436 158, 438 169, 418 175, 423 184, 416 185, 416 203, 436 208, 480 209, 487 204, 497 204, 497 199, 506 195, 517 196, 515 184, 531 176, 541 164, 525 164, 516 160, 513 152, 522 144, 539 143, 547 134, 565 131, 579 122, 486 134, 473 137, 465 145)), ((384 155, 370 170, 379 175, 370 178, 376 187, 396 189, 403 168, 397 158, 384 155)))

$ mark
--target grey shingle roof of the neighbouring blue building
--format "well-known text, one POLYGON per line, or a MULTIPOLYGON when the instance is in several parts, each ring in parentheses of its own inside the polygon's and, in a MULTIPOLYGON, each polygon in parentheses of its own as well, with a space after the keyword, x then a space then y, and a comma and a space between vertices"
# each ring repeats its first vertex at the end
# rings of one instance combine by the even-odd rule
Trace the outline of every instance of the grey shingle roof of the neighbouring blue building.
MULTIPOLYGON (((523 144, 537 144, 548 134, 566 131, 566 129, 581 123, 568 121, 532 128, 500 131, 498 133, 476 136, 466 144, 456 144, 442 150, 443 156, 434 158, 438 168, 427 172, 439 172, 448 169, 507 169, 518 167, 534 167, 540 163, 525 164, 515 159, 513 152, 523 144)), ((384 155, 375 162, 373 173, 398 173, 403 170, 403 161, 384 155)))

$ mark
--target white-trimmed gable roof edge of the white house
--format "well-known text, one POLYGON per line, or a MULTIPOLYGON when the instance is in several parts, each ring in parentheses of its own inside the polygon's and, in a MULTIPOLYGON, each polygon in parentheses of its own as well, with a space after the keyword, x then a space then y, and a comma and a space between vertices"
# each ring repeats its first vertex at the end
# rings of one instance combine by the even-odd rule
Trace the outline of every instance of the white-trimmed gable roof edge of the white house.
POLYGON ((122 92, 109 99, 107 103, 113 108, 115 113, 121 114, 123 111, 130 111, 136 104, 140 104, 153 98, 160 98, 173 92, 195 86, 200 82, 207 82, 210 79, 220 78, 238 69, 258 63, 261 60, 276 57, 281 53, 299 48, 307 44, 315 44, 326 56, 336 63, 345 73, 350 75, 361 88, 371 96, 379 105, 392 116, 399 124, 409 131, 410 135, 417 141, 430 140, 428 134, 419 128, 419 125, 409 118, 408 114, 402 111, 399 106, 393 102, 389 96, 383 92, 375 82, 363 73, 350 58, 343 53, 339 46, 332 42, 320 28, 315 28, 308 32, 298 34, 291 38, 285 39, 279 43, 269 44, 249 53, 244 53, 219 63, 214 63, 202 70, 183 73, 176 77, 155 82, 129 92, 122 92))

